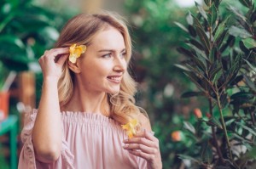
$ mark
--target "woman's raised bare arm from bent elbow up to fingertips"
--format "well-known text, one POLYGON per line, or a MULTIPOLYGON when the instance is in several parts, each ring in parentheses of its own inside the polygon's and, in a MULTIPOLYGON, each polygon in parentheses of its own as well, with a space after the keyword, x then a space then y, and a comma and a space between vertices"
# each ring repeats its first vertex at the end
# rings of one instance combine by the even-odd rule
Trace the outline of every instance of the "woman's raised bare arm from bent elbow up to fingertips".
POLYGON ((39 59, 44 83, 38 115, 32 130, 32 143, 38 161, 46 163, 56 161, 61 154, 61 114, 57 83, 67 53, 67 48, 55 48, 46 51, 39 59), (61 58, 55 62, 55 57, 60 54, 61 58))

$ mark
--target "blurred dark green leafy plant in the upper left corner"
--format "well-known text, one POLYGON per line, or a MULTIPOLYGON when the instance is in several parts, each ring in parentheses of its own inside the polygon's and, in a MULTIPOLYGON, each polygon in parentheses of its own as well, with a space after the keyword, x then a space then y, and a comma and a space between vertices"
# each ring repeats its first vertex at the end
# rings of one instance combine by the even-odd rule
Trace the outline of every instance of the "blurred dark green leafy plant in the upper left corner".
POLYGON ((59 36, 61 15, 32 0, 0 1, 0 61, 9 70, 35 70, 35 62, 59 36))

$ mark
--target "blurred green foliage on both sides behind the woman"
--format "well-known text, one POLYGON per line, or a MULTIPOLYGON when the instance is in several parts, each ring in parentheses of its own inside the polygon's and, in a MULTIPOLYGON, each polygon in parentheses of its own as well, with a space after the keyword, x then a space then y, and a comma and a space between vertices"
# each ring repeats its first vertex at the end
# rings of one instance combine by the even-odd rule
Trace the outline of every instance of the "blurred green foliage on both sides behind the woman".
MULTIPOLYGON (((244 10, 240 3, 223 0, 244 10)), ((32 0, 0 0, 0 76, 6 70, 33 70, 45 49, 53 46, 56 35, 68 18, 79 13, 60 0, 42 6, 32 0), (53 38, 54 37, 54 38, 53 38), (7 50, 7 48, 9 50, 7 50), (4 70, 4 71, 3 71, 4 70)), ((134 53, 131 73, 139 82, 137 104, 147 110, 155 136, 160 139, 164 168, 183 166, 177 154, 193 153, 191 139, 174 143, 173 131, 183 128, 184 121, 195 123, 192 115, 200 107, 207 112, 206 100, 180 99, 195 84, 175 64, 184 59, 177 47, 184 46, 186 35, 175 22, 186 23, 188 12, 196 8, 180 8, 174 0, 125 0, 124 13, 130 23, 134 53)), ((221 7, 220 12, 226 13, 221 7)), ((1 80, 0 78, 0 85, 1 80)), ((42 76, 37 73, 37 100, 42 76)), ((189 136, 187 136, 189 137, 189 136)))

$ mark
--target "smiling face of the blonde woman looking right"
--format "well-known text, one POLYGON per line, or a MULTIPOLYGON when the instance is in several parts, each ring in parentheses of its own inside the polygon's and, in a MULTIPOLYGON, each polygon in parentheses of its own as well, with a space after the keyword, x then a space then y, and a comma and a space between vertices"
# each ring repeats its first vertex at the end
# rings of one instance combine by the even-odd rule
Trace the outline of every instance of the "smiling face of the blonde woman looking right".
POLYGON ((125 42, 113 27, 96 34, 79 60, 79 79, 85 90, 98 93, 119 93, 127 68, 125 42))

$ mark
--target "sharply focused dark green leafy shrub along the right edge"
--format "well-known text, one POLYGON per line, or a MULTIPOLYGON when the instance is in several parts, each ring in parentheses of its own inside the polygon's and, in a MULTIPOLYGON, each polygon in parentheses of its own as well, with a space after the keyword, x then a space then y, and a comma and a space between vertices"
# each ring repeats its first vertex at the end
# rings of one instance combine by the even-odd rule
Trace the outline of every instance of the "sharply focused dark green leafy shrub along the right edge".
POLYGON ((198 88, 182 96, 205 97, 209 111, 195 122, 195 132, 185 127, 199 149, 190 155, 198 158, 180 157, 201 168, 255 165, 256 8, 251 0, 239 2, 245 14, 231 5, 221 13, 221 0, 204 0, 204 6, 195 3, 198 14, 187 15, 188 26, 177 23, 189 35, 177 48, 188 59, 177 66, 198 88))

